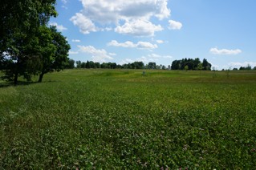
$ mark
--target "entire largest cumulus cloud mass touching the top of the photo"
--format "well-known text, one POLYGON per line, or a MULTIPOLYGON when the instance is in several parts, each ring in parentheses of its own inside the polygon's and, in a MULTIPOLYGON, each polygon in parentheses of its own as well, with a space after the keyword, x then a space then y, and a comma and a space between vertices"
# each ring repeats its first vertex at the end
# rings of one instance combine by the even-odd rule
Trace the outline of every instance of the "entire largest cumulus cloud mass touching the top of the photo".
POLYGON ((83 4, 83 10, 75 14, 71 22, 79 26, 83 34, 97 30, 95 29, 97 23, 101 26, 115 24, 115 31, 120 34, 153 36, 155 31, 163 28, 150 22, 150 19, 154 17, 161 20, 170 16, 168 0, 80 0, 80 2, 83 4), (78 24, 78 18, 83 18, 87 22, 78 24))

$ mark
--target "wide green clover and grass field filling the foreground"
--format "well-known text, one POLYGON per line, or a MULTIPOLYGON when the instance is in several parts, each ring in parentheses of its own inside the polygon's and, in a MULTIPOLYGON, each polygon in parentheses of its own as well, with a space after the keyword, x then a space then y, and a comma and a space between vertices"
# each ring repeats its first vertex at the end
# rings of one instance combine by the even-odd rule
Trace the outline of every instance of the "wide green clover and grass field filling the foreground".
POLYGON ((1 169, 255 169, 255 149, 256 71, 66 70, 0 82, 1 169))

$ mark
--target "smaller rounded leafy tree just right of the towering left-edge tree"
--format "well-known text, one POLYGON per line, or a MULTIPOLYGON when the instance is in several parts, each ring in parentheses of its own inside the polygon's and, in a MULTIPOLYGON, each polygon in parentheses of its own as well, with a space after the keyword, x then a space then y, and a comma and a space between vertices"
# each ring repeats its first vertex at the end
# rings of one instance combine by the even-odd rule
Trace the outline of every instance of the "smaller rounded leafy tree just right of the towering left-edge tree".
POLYGON ((39 82, 42 82, 43 75, 52 71, 61 71, 67 65, 70 45, 66 38, 60 32, 57 32, 55 26, 50 28, 41 26, 39 39, 40 55, 43 58, 39 82))

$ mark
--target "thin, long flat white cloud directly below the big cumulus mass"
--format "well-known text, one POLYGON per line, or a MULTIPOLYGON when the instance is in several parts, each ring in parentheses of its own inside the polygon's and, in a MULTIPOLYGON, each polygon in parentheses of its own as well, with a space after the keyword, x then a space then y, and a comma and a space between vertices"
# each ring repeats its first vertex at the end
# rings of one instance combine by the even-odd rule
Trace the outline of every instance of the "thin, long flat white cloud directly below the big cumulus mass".
POLYGON ((152 50, 157 48, 156 44, 152 44, 150 42, 137 42, 136 44, 130 41, 127 42, 117 42, 116 40, 112 40, 108 42, 108 46, 113 47, 126 47, 126 48, 140 48, 140 49, 147 49, 152 50))

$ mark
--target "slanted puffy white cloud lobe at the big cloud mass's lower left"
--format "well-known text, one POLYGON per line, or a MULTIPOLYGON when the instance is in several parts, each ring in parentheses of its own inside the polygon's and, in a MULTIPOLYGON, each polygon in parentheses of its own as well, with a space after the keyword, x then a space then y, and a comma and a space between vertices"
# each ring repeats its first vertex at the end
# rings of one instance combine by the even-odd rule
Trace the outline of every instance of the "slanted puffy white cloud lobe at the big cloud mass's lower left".
POLYGON ((83 34, 89 34, 97 30, 95 24, 91 22, 91 19, 85 17, 83 14, 76 13, 70 20, 75 26, 79 27, 80 32, 83 34))

